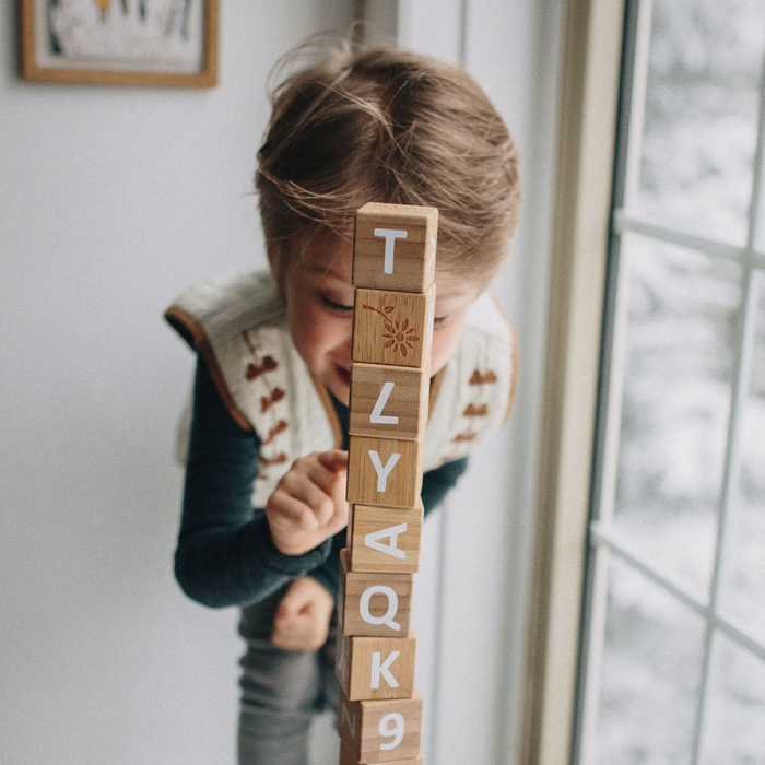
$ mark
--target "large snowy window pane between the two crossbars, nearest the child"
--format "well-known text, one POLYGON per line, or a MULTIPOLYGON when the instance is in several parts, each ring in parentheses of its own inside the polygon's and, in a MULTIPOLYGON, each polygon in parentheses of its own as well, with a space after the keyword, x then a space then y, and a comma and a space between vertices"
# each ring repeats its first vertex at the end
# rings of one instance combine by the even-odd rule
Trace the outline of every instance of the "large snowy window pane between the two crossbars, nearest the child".
POLYGON ((629 263, 614 529, 708 596, 731 397, 741 269, 647 237, 629 263))

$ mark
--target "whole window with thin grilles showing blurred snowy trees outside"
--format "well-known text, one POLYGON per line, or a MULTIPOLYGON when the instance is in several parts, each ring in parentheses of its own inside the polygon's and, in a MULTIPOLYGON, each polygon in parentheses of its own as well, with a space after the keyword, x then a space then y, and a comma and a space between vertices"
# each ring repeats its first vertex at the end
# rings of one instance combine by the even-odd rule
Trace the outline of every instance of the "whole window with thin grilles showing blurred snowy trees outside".
POLYGON ((629 5, 579 763, 765 765, 765 0, 629 5))

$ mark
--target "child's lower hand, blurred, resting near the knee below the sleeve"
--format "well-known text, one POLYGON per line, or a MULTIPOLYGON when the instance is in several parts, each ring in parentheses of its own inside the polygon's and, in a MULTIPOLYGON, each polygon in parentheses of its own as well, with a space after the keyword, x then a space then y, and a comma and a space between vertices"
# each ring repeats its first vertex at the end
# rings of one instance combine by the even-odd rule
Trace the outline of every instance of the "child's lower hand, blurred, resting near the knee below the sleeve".
POLYGON ((309 576, 295 579, 273 617, 271 643, 284 650, 318 650, 327 642, 334 599, 309 576))

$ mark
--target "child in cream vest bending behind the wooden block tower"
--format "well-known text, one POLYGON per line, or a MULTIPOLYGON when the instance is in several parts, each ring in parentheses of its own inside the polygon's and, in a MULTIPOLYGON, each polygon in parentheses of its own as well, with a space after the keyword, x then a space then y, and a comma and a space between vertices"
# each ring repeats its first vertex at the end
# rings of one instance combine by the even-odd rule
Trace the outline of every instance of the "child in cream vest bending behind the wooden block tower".
POLYGON ((337 705, 358 208, 439 210, 425 513, 515 391, 513 333, 484 293, 520 198, 502 118, 454 67, 319 52, 274 90, 258 154, 270 273, 210 280, 166 315, 199 356, 176 576, 201 603, 243 607, 243 765, 305 765, 311 717, 337 705))

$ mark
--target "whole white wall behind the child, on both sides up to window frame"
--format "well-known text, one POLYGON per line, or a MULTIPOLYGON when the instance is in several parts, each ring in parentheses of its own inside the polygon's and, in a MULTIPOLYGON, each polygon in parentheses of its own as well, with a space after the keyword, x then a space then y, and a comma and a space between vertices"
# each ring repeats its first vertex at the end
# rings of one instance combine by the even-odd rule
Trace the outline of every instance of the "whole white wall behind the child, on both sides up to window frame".
MULTIPOLYGON (((367 0, 389 3, 395 0, 367 0)), ((0 9, 0 763, 234 762, 236 611, 172 576, 191 356, 175 294, 262 263, 248 196, 264 79, 350 0, 226 0, 211 91, 33 85, 0 9)), ((403 0, 403 43, 464 62, 523 157, 513 424, 428 521, 417 580, 431 765, 513 762, 533 509, 556 0, 403 0), (429 22, 428 22, 429 20, 429 22), (467 26, 463 22, 467 21, 467 26)), ((384 14, 385 15, 385 14, 384 14)))

